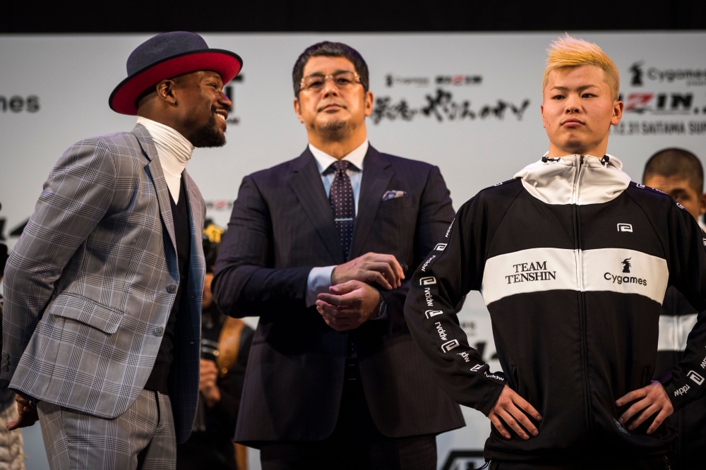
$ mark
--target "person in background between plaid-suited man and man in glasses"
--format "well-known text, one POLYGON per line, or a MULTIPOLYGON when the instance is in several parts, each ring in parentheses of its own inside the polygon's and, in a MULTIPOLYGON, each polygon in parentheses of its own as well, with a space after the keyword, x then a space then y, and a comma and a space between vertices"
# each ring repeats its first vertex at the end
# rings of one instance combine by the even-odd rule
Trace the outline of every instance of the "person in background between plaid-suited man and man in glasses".
POLYGON ((213 302, 211 281, 223 230, 210 220, 203 230, 206 276, 201 300, 201 381, 189 440, 177 446, 177 470, 245 470, 247 447, 234 444, 253 329, 223 315, 213 302))

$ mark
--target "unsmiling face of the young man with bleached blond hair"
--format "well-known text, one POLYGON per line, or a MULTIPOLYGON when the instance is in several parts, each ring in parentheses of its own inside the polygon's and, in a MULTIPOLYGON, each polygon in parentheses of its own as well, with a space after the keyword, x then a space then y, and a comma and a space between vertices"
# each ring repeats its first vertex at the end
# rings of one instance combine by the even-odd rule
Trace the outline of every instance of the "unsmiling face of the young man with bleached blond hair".
POLYGON ((543 97, 542 123, 549 137, 549 157, 605 155, 610 126, 620 122, 623 102, 611 98, 602 68, 587 65, 553 70, 543 97))

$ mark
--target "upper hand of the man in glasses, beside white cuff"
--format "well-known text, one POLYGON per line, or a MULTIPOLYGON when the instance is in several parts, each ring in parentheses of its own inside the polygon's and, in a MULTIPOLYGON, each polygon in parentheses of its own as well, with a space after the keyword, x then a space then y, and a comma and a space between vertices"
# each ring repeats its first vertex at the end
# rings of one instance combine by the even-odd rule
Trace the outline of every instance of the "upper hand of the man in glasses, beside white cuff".
POLYGON ((405 272, 393 255, 366 253, 348 263, 337 265, 331 272, 331 285, 348 281, 377 282, 385 289, 400 287, 405 272))

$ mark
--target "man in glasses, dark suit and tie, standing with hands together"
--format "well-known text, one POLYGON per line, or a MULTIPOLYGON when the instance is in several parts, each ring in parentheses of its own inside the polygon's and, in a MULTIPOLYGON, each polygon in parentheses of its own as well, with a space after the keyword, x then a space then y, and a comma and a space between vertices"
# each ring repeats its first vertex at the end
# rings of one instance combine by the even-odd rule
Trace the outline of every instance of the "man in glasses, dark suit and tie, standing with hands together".
POLYGON ((438 167, 369 144, 352 47, 314 44, 292 81, 309 143, 243 179, 213 279, 223 313, 260 317, 235 440, 263 470, 436 469, 436 435, 464 421, 409 336, 402 264, 443 236, 449 191, 438 167))

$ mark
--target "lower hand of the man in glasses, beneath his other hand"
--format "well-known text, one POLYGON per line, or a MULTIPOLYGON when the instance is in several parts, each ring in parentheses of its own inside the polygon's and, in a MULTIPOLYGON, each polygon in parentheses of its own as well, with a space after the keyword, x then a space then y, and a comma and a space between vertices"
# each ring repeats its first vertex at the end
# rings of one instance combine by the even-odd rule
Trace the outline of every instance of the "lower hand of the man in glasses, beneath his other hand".
POLYGON ((365 282, 348 281, 330 291, 333 294, 318 294, 316 310, 336 331, 353 330, 378 314, 380 292, 365 282))

